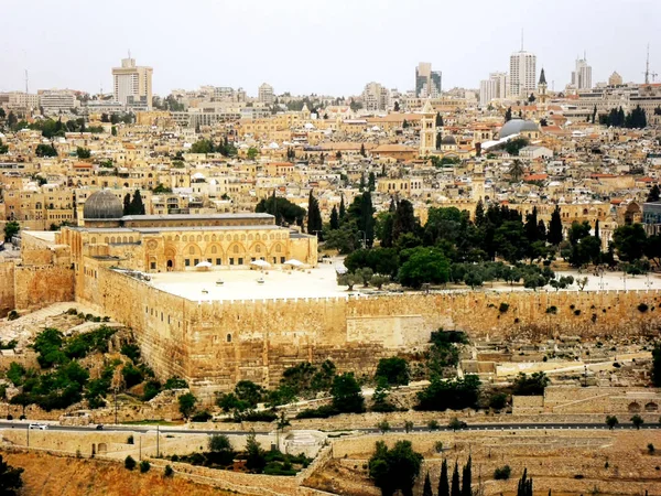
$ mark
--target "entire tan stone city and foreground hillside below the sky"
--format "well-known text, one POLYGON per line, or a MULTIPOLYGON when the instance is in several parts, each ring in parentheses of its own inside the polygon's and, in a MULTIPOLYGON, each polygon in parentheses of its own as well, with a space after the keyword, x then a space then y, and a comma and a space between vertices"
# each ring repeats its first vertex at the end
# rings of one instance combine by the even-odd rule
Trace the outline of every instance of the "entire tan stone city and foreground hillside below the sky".
POLYGON ((659 47, 532 50, 0 91, 2 494, 661 494, 659 47))

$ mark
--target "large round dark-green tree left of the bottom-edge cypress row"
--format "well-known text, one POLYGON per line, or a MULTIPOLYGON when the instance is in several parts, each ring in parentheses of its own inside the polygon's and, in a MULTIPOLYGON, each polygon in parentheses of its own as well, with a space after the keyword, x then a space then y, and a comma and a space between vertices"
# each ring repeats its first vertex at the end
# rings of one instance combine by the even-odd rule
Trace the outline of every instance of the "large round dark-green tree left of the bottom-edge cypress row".
POLYGON ((422 461, 423 456, 413 451, 411 441, 398 441, 391 450, 378 441, 369 459, 369 476, 383 496, 392 496, 397 490, 412 496, 422 461))

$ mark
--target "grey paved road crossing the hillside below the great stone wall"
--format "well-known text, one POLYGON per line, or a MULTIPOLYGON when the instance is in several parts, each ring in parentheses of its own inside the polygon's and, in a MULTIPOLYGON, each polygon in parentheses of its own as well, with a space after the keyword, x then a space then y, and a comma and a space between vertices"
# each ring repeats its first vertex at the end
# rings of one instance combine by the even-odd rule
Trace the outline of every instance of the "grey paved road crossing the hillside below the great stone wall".
MULTIPOLYGON (((28 429, 30 422, 28 421, 0 421, 0 429, 28 429)), ((215 429, 185 429, 180 427, 160 427, 161 432, 166 434, 234 434, 234 435, 248 435, 250 431, 223 431, 215 429)), ((468 431, 530 431, 530 430, 608 430, 608 425, 605 423, 476 423, 468 424, 465 430, 468 431)), ((615 427, 616 430, 636 429, 631 423, 620 423, 615 427)), ((661 429, 660 423, 643 423, 640 429, 661 429)), ((96 431, 96 425, 80 427, 80 425, 57 425, 48 424, 51 431, 68 431, 68 432, 90 432, 96 431)), ((438 431, 449 431, 448 427, 441 427, 438 431)), ((104 425, 105 432, 155 432, 156 425, 104 425)), ((366 429, 347 429, 346 431, 359 431, 359 432, 380 432, 378 428, 366 428, 366 429)), ((402 428, 392 428, 390 432, 404 432, 402 428)), ((426 427, 415 427, 413 432, 430 432, 426 427)), ((257 431, 258 434, 267 434, 267 431, 257 431)))

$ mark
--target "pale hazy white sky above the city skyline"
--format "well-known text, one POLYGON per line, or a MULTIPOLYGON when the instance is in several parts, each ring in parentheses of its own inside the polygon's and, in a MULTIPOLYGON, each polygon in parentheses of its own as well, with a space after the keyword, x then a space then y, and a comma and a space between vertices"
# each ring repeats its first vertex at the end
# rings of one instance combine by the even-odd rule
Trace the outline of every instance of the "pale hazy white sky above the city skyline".
MULTIPOLYGON (((661 73, 661 0, 0 0, 0 90, 111 89, 130 48, 154 91, 201 85, 356 95, 366 83, 413 87, 414 67, 444 89, 477 88, 524 47, 551 87, 587 52, 593 83, 661 73)), ((658 78, 661 82, 661 78, 658 78)))

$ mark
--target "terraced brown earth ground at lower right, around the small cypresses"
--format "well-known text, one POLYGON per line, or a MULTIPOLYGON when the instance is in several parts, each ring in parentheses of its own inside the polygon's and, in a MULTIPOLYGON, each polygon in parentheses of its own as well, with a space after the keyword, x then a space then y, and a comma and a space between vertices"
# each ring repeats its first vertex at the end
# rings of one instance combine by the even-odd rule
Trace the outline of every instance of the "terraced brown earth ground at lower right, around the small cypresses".
MULTIPOLYGON (((423 452, 425 462, 414 496, 422 494, 427 471, 432 486, 437 487, 443 456, 448 461, 452 475, 455 461, 463 466, 468 453, 473 457, 473 489, 479 489, 485 496, 516 495, 524 467, 534 481, 534 494, 546 495, 551 489, 553 496, 633 496, 643 495, 646 490, 649 495, 661 495, 661 450, 657 449, 654 454, 647 450, 648 443, 661 445, 661 433, 657 430, 422 435, 434 435, 434 441, 443 439, 445 451, 437 454, 433 449, 418 450, 423 452), (510 479, 495 481, 494 470, 503 465, 511 467, 510 479)), ((383 439, 392 445, 402 438, 401 434, 376 435, 373 441, 383 439)), ((415 449, 414 440, 413 444, 415 449)), ((369 445, 370 451, 373 449, 371 442, 365 445, 369 445)), ((339 495, 380 495, 368 476, 367 461, 371 452, 347 453, 345 457, 337 450, 336 455, 339 457, 315 473, 305 485, 339 495)))

